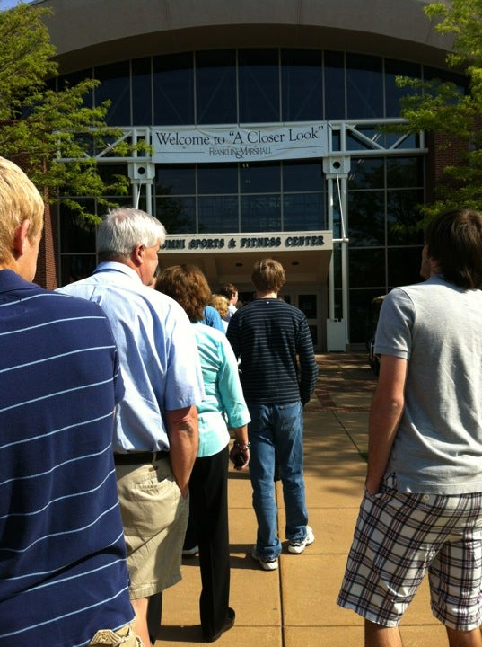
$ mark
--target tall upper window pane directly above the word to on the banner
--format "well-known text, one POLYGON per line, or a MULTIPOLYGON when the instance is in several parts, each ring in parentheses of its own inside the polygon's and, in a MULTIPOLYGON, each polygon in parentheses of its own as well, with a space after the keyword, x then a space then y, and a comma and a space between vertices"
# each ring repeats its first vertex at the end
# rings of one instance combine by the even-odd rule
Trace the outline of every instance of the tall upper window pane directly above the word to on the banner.
POLYGON ((196 102, 198 124, 237 123, 236 52, 197 52, 196 102))

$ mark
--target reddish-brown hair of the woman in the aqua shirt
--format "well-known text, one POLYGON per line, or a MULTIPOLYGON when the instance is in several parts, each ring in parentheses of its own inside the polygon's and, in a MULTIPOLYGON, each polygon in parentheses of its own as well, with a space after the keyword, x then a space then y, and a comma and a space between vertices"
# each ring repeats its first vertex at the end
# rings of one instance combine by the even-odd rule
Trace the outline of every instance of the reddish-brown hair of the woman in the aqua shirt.
POLYGON ((177 301, 186 311, 190 322, 202 321, 211 290, 197 265, 172 265, 162 270, 155 289, 177 301))

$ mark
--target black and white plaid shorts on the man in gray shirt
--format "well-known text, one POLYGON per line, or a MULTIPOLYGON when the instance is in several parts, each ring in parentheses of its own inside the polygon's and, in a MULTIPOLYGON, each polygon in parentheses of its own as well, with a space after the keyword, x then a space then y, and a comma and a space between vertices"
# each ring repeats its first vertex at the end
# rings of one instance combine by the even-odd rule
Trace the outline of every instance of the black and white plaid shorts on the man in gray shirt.
POLYGON ((426 571, 434 616, 452 629, 478 627, 482 492, 365 492, 337 604, 377 625, 397 626, 426 571))

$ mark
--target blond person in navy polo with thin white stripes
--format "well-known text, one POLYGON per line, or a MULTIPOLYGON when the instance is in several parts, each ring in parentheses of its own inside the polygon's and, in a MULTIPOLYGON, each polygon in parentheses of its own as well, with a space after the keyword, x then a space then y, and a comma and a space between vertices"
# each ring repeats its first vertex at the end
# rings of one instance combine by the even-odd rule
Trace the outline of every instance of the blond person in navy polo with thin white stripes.
POLYGON ((0 644, 136 647, 101 308, 39 288, 44 203, 0 157, 0 644))

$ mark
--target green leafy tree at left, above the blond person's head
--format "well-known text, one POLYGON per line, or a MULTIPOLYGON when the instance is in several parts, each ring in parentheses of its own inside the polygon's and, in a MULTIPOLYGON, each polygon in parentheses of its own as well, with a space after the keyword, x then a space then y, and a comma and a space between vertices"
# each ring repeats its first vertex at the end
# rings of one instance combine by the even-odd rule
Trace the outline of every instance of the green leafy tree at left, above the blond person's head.
MULTIPOLYGON (((104 196, 127 194, 129 182, 121 175, 104 182, 92 152, 112 145, 113 153, 126 155, 129 146, 122 140, 116 145, 119 131, 106 126, 108 102, 93 109, 85 106, 85 95, 99 82, 85 79, 54 88, 56 49, 43 22, 49 13, 32 4, 0 12, 1 155, 22 166, 50 201, 63 195, 92 196, 109 208, 104 196)), ((64 201, 77 215, 96 220, 85 201, 64 201)))

